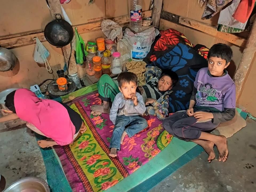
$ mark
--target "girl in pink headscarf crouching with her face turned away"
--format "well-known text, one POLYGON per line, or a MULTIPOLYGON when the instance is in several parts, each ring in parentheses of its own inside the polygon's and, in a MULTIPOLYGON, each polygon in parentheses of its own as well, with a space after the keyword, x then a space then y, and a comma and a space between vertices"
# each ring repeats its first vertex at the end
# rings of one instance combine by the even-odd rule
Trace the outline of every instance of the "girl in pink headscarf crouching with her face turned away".
POLYGON ((69 106, 49 99, 40 99, 28 89, 18 89, 7 95, 6 107, 13 114, 0 118, 27 121, 27 127, 53 141, 39 140, 40 147, 68 145, 86 131, 80 115, 69 106))

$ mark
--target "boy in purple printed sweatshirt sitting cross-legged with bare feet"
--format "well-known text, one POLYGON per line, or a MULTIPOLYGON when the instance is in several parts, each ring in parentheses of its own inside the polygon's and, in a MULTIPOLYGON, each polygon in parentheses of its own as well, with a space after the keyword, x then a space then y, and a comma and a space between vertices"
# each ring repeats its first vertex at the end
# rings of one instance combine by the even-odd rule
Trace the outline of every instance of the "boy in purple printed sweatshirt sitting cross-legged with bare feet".
POLYGON ((219 151, 218 161, 225 162, 228 155, 226 137, 209 132, 235 116, 235 83, 226 71, 232 55, 228 45, 213 45, 208 68, 200 69, 195 78, 189 109, 163 121, 163 127, 174 137, 201 145, 209 163, 215 158, 214 145, 219 151))

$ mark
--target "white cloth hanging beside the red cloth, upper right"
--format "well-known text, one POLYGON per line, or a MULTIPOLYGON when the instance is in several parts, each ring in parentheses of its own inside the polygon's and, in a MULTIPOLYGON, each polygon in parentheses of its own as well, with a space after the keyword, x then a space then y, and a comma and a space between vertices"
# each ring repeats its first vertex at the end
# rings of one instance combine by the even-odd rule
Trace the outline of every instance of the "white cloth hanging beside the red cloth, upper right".
POLYGON ((240 2, 240 0, 233 0, 232 4, 230 6, 226 7, 226 9, 223 9, 220 12, 218 24, 222 24, 225 26, 242 29, 242 30, 245 29, 247 21, 244 23, 241 23, 241 22, 237 21, 234 17, 232 17, 235 10, 237 9, 239 2, 240 2))

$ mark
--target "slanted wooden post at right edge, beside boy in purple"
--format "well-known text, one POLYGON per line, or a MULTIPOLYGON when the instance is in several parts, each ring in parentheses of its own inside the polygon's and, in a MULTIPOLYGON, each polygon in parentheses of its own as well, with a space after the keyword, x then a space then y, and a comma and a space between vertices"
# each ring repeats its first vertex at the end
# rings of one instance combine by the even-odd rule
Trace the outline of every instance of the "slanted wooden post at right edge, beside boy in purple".
POLYGON ((250 65, 254 62, 256 51, 256 22, 253 23, 253 27, 250 32, 250 36, 247 40, 245 49, 240 58, 237 71, 235 73, 234 82, 236 86, 236 101, 238 100, 243 85, 245 83, 245 78, 247 77, 250 69, 250 65))

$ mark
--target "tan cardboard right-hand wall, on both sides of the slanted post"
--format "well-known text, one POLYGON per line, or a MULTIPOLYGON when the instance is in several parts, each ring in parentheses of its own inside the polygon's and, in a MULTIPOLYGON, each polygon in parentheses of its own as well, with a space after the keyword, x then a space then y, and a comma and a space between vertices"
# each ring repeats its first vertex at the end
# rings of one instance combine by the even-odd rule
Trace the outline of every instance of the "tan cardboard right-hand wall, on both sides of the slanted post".
MULTIPOLYGON (((217 26, 219 14, 216 14, 209 20, 201 20, 201 16, 204 10, 198 5, 198 1, 195 0, 179 0, 179 1, 169 1, 163 0, 163 10, 168 11, 173 14, 177 14, 183 17, 188 17, 190 19, 194 19, 199 22, 207 23, 212 26, 217 26)), ((189 27, 183 27, 177 25, 175 23, 166 21, 161 19, 160 20, 160 29, 165 30, 173 28, 182 32, 193 44, 203 44, 207 47, 211 47, 215 43, 226 43, 230 45, 231 49, 233 50, 233 58, 231 61, 231 65, 228 67, 228 72, 231 77, 234 76, 235 70, 239 64, 239 60, 242 55, 243 49, 241 47, 237 47, 229 42, 226 42, 222 39, 213 37, 206 33, 202 33, 200 31, 190 29, 189 27)), ((237 100, 237 106, 248 110, 254 116, 256 116, 256 89, 255 81, 256 81, 256 59, 254 60, 251 68, 249 69, 249 75, 246 78, 245 85, 241 92, 240 97, 237 100)))

